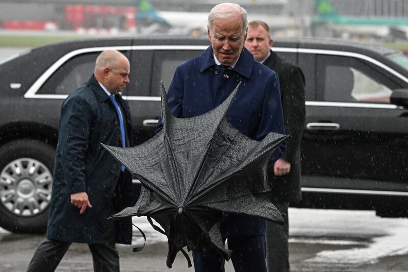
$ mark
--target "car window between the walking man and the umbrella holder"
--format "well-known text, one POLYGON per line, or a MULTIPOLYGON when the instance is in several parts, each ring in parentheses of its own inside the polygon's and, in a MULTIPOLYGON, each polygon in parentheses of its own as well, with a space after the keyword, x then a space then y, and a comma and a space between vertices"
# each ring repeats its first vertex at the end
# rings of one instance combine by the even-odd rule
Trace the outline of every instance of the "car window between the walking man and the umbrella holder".
POLYGON ((167 90, 177 66, 201 53, 202 51, 197 50, 156 51, 152 66, 151 95, 160 96, 160 81, 163 81, 164 88, 167 90))

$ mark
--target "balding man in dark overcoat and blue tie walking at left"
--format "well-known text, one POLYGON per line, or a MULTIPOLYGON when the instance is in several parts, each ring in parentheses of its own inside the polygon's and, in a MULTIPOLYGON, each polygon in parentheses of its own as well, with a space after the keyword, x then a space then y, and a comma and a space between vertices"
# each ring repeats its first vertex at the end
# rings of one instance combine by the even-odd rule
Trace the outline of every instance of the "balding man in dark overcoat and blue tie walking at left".
POLYGON ((118 94, 130 63, 101 53, 94 74, 62 104, 46 238, 28 271, 54 271, 72 242, 88 243, 95 271, 119 271, 115 243, 130 244, 130 218, 107 218, 132 206, 132 176, 101 146, 133 145, 129 105, 118 94))

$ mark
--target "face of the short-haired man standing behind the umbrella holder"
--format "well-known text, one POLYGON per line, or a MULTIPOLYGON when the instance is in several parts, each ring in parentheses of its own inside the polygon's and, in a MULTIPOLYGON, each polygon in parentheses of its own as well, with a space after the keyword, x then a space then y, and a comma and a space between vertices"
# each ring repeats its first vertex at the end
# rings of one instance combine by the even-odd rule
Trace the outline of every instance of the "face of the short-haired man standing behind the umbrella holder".
POLYGON ((248 28, 245 47, 252 53, 255 60, 262 61, 265 59, 268 56, 272 43, 273 41, 268 37, 264 27, 248 28))

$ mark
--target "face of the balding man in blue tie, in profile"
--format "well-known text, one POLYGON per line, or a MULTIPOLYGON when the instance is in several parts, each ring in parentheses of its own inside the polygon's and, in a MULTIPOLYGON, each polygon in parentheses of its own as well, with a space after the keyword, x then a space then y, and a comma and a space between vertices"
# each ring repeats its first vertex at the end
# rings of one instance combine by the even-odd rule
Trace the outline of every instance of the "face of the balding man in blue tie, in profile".
POLYGON ((116 68, 109 69, 109 71, 105 73, 107 85, 105 87, 112 94, 122 92, 122 90, 126 87, 126 84, 129 83, 129 73, 130 73, 129 61, 123 58, 119 61, 116 68))

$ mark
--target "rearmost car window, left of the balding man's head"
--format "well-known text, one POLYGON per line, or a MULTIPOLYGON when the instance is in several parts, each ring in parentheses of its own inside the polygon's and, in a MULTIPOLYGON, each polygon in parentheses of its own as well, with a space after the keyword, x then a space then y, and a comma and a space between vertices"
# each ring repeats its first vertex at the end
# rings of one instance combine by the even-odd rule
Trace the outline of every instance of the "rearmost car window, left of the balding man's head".
POLYGON ((99 52, 75 56, 51 75, 41 86, 39 94, 69 94, 93 74, 99 52))

